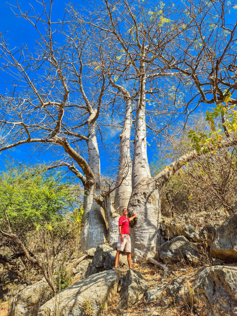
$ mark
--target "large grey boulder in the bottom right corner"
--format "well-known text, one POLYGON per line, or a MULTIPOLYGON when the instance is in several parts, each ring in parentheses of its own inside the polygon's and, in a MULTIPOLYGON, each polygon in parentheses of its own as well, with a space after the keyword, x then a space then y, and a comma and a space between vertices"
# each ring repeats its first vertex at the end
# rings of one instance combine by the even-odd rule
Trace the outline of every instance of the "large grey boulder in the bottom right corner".
POLYGON ((237 267, 203 267, 197 272, 190 299, 199 315, 237 315, 237 267))

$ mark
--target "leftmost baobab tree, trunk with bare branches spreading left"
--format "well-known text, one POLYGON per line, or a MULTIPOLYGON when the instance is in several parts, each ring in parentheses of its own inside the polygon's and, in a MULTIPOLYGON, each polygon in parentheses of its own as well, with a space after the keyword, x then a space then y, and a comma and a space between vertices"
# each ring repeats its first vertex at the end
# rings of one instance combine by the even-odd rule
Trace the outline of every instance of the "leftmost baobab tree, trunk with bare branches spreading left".
POLYGON ((84 187, 82 245, 90 248, 106 240, 104 216, 93 200, 95 193, 100 195, 100 156, 95 126, 106 89, 105 76, 102 74, 88 96, 83 86, 84 33, 80 33, 81 37, 74 33, 70 41, 66 37, 67 42, 61 46, 56 44, 52 36, 52 1, 49 6, 43 3, 42 7, 40 17, 23 13, 19 6, 14 8, 17 15, 24 17, 39 33, 35 48, 37 58, 32 57, 35 52, 29 52, 27 46, 21 50, 10 49, 1 35, 3 69, 14 71, 18 82, 13 84, 11 93, 1 95, 0 151, 28 143, 43 145, 44 150, 53 147, 53 159, 59 160, 53 167, 68 167, 84 187), (41 27, 45 29, 44 35, 41 27), (72 70, 73 76, 69 77, 72 70), (19 84, 24 88, 19 89, 19 84), (80 98, 73 99, 78 90, 80 98), (80 149, 78 142, 83 143, 80 149))

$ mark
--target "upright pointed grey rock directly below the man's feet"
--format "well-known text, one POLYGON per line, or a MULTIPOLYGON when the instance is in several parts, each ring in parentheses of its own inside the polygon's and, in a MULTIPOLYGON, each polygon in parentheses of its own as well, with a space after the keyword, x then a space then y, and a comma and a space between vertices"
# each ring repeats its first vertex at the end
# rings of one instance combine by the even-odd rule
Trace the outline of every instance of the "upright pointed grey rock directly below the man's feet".
POLYGON ((129 269, 121 287, 119 309, 124 310, 131 307, 143 297, 147 289, 148 283, 141 273, 129 269))

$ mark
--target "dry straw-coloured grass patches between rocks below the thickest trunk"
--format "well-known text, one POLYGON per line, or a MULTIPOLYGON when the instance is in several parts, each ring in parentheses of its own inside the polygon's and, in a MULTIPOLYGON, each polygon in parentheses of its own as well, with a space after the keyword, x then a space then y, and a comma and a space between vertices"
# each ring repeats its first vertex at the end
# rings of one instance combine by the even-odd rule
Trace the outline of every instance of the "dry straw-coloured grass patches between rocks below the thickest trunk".
MULTIPOLYGON (((170 283, 175 277, 183 277, 185 278, 185 283, 188 287, 192 286, 192 280, 197 273, 197 270, 200 269, 200 267, 193 268, 191 266, 187 266, 185 263, 170 264, 168 267, 169 272, 167 274, 165 284, 170 283)), ((147 280, 150 289, 156 288, 161 284, 163 270, 152 263, 140 262, 133 264, 133 269, 139 271, 141 275, 147 280)), ((127 268, 119 268, 117 270, 118 276, 124 276, 127 273, 127 270, 127 268)), ((172 297, 164 295, 164 297, 161 299, 162 301, 157 301, 150 305, 145 305, 146 301, 145 297, 143 297, 134 306, 128 308, 122 313, 117 310, 119 299, 119 293, 117 293, 112 298, 112 301, 108 304, 108 309, 104 311, 104 316, 150 316, 153 315, 153 313, 157 316, 195 315, 195 313, 189 307, 185 297, 183 298, 183 301, 175 303, 172 297)))

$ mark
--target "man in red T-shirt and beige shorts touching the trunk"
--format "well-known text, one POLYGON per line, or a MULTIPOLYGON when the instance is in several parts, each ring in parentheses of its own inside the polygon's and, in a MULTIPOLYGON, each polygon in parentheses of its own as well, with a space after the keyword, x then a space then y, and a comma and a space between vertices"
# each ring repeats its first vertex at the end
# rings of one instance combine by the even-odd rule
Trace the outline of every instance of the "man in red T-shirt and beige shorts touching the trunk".
POLYGON ((117 253, 115 256, 115 264, 113 270, 117 270, 118 262, 120 258, 120 253, 124 250, 127 254, 128 266, 129 269, 132 267, 132 258, 131 258, 131 239, 129 233, 129 222, 136 217, 137 213, 134 212, 134 215, 130 218, 127 218, 128 211, 123 209, 123 216, 119 218, 119 239, 117 244, 117 253))

